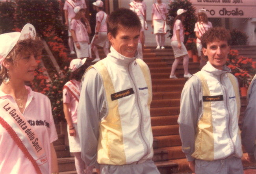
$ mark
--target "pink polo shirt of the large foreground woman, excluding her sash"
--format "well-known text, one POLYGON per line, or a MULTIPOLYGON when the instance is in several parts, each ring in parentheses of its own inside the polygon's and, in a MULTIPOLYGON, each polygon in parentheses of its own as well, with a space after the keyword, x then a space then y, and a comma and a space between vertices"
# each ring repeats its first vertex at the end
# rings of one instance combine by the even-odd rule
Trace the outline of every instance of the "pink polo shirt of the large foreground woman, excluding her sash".
MULTIPOLYGON (((52 108, 47 96, 28 90, 28 100, 26 102, 23 116, 28 124, 35 130, 38 138, 45 148, 46 157, 49 163, 49 172, 52 173, 52 158, 50 143, 58 139, 54 120, 52 118, 52 108)), ((0 91, 0 97, 8 98, 9 101, 18 106, 11 95, 0 91)), ((17 144, 0 124, 0 173, 1 174, 35 174, 35 168, 31 161, 23 154, 17 144)))

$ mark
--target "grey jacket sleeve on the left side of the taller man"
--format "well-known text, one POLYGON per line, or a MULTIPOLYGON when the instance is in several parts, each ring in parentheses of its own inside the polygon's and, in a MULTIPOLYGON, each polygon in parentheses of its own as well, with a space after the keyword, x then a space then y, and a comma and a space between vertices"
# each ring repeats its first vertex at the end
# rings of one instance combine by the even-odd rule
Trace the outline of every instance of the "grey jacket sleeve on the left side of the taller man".
POLYGON ((86 72, 81 85, 77 109, 78 134, 82 147, 81 157, 87 166, 91 166, 97 161, 99 122, 106 115, 106 101, 102 80, 94 68, 86 72))

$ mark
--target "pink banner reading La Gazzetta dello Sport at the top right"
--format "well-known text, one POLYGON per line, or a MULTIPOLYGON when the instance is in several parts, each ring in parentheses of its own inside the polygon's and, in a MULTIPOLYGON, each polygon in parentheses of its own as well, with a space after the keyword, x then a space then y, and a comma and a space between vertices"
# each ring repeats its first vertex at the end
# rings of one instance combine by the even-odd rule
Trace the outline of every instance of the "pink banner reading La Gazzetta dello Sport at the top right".
POLYGON ((256 0, 190 0, 196 11, 213 18, 256 18, 256 0))

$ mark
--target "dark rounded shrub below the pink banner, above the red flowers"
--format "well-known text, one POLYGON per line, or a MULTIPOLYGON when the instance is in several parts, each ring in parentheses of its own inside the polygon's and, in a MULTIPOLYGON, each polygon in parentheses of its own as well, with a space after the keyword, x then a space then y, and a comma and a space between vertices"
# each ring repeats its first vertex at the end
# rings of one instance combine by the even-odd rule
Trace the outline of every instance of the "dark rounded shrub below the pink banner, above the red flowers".
POLYGON ((248 36, 244 31, 233 29, 230 30, 231 45, 246 45, 248 36))

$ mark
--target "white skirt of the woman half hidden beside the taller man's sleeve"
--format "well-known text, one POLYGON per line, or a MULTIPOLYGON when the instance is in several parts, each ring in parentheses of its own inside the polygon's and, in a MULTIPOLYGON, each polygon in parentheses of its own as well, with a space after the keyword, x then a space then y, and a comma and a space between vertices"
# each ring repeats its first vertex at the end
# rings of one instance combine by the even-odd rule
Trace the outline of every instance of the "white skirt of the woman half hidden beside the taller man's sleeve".
POLYGON ((76 130, 76 136, 72 137, 69 135, 69 125, 68 125, 68 137, 69 137, 69 152, 81 152, 81 145, 79 140, 79 135, 77 131, 77 124, 73 123, 76 130))

